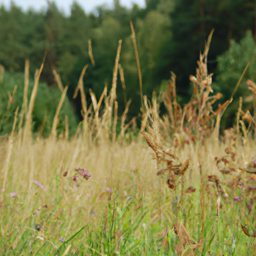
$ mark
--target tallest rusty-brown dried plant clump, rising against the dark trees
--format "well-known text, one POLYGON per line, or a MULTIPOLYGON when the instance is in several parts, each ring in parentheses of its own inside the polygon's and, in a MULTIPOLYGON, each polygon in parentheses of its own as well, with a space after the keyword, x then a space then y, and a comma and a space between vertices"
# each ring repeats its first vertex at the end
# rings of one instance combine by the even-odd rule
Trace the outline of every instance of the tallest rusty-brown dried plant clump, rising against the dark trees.
POLYGON ((207 72, 207 54, 211 41, 213 29, 211 30, 203 54, 200 53, 197 61, 196 75, 190 75, 189 79, 194 85, 193 94, 190 101, 183 107, 177 103, 175 89, 175 74, 171 73, 171 79, 167 87, 167 92, 163 93, 162 100, 168 110, 168 118, 171 130, 176 133, 185 132, 190 141, 195 141, 195 137, 207 135, 214 127, 216 136, 219 132, 220 118, 231 102, 226 100, 223 104, 215 107, 213 104, 221 98, 221 93, 213 93, 211 87, 212 73, 207 72), (214 124, 214 125, 212 125, 214 124), (183 127, 184 126, 184 127, 183 127))

